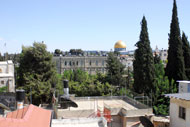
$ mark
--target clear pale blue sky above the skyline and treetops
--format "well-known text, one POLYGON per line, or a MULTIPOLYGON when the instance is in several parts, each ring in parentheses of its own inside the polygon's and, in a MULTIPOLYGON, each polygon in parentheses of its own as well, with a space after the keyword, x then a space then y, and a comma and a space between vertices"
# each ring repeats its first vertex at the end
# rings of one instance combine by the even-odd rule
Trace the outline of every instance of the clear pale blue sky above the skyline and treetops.
MULTIPOLYGON (((190 36, 190 1, 177 0, 180 30, 190 36)), ((20 53, 33 42, 47 50, 134 50, 143 15, 152 49, 168 48, 173 0, 0 0, 0 52, 20 53)), ((182 33, 182 32, 181 32, 182 33)))

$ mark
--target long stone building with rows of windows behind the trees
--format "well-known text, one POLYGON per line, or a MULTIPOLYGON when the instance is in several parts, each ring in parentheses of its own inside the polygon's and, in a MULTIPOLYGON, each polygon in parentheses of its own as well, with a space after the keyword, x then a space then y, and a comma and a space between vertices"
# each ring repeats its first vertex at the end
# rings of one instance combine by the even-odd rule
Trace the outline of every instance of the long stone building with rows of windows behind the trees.
POLYGON ((58 73, 81 69, 89 74, 106 73, 107 56, 54 56, 58 73))

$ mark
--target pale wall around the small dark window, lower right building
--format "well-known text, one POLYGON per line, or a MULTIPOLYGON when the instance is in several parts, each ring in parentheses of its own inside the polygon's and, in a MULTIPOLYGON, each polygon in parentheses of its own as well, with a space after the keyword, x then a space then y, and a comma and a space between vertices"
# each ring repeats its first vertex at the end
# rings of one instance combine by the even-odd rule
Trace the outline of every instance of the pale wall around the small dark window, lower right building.
POLYGON ((172 100, 170 102, 170 127, 190 127, 190 102, 177 99, 172 100), (179 118, 179 106, 186 108, 185 120, 179 118))

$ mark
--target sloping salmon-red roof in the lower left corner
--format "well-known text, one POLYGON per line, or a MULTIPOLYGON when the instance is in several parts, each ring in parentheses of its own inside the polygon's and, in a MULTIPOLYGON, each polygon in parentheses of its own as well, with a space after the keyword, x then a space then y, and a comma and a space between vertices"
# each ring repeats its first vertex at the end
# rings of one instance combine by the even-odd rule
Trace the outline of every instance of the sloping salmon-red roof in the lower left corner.
POLYGON ((50 127, 51 111, 29 105, 0 117, 0 127, 50 127))

